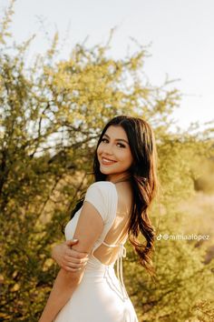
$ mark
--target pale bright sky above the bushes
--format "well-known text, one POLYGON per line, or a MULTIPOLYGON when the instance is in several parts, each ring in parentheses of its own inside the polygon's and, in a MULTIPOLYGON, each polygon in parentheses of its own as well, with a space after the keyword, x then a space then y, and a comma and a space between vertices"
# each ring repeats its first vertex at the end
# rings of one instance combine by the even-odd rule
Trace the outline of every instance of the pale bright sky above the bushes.
MULTIPOLYGON (((0 16, 9 0, 0 0, 0 16)), ((154 86, 166 76, 182 93, 173 114, 186 129, 214 119, 214 1, 213 0, 16 0, 11 31, 22 42, 36 34, 30 55, 44 52, 58 31, 61 55, 73 45, 106 44, 117 59, 137 49, 131 39, 148 46, 144 71, 154 86)))

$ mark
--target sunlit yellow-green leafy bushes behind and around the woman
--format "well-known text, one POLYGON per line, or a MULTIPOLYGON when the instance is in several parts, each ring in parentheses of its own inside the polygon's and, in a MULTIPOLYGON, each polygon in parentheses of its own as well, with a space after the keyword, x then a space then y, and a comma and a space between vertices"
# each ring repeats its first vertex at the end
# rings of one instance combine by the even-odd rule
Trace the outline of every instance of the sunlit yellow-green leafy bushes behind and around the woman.
MULTIPOLYGON (((33 38, 10 47, 13 4, 0 30, 0 318, 36 321, 53 283, 50 248, 63 239, 61 226, 92 181, 94 146, 106 121, 121 114, 143 116, 155 130, 161 189, 151 217, 157 234, 180 233, 183 214, 177 206, 194 193, 201 156, 213 153, 213 142, 209 131, 206 139, 170 134, 180 96, 168 82, 160 88, 148 83, 142 49, 114 60, 107 45, 77 44, 62 61, 55 35, 50 49, 25 65, 33 38)), ((140 321, 213 317, 213 262, 204 265, 203 252, 187 241, 156 244, 156 284, 131 247, 125 262, 140 321)))

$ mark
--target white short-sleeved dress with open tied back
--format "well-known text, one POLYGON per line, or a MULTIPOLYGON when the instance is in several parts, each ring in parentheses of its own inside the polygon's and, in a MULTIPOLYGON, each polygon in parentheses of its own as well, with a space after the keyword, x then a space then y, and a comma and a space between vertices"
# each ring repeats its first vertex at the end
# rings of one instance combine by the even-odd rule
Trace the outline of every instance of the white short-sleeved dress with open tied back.
MULTIPOLYGON (((116 217, 116 187, 109 181, 95 182, 87 189, 84 201, 90 202, 98 210, 104 227, 102 235, 92 247, 80 285, 54 322, 138 322, 122 280, 122 257, 126 256, 126 249, 123 244, 109 245, 104 241, 116 217), (102 244, 119 249, 118 257, 111 265, 104 265, 93 256, 95 249, 102 244), (115 263, 117 276, 114 272, 115 263)), ((73 237, 80 213, 81 209, 65 226, 66 240, 73 237)))

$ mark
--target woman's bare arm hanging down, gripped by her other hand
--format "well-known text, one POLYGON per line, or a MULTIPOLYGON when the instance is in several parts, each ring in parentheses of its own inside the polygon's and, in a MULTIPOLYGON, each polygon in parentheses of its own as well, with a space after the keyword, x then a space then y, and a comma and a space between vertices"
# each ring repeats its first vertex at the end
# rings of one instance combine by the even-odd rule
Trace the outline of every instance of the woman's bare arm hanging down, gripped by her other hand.
MULTIPOLYGON (((102 234, 102 229, 102 216, 92 204, 84 202, 73 236, 79 242, 73 246, 73 249, 90 254, 95 241, 102 234)), ((75 288, 81 283, 83 272, 84 267, 75 272, 67 272, 63 268, 60 270, 39 322, 53 321, 61 308, 72 297, 75 288)))

